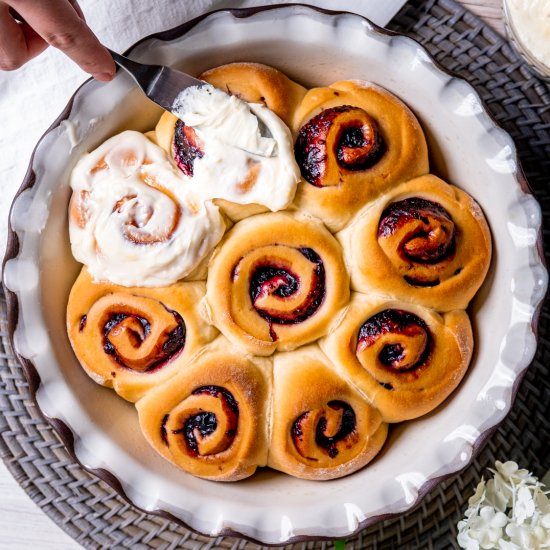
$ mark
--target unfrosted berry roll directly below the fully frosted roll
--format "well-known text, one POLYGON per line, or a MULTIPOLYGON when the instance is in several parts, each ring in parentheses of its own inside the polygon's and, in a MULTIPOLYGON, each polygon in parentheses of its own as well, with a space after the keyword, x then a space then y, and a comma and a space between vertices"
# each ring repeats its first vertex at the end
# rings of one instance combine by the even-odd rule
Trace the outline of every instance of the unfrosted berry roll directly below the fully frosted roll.
POLYGON ((204 283, 127 288, 95 283, 84 267, 71 289, 67 331, 88 375, 129 401, 173 377, 217 331, 200 315, 204 283))

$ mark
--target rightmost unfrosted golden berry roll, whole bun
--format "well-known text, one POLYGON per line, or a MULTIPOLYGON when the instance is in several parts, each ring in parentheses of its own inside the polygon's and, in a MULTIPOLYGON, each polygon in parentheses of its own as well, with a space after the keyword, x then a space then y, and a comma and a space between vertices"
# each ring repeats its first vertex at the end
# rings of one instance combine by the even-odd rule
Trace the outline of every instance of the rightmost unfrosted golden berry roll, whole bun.
POLYGON ((466 308, 491 261, 480 207, 427 175, 384 195, 338 235, 352 288, 438 311, 466 308))

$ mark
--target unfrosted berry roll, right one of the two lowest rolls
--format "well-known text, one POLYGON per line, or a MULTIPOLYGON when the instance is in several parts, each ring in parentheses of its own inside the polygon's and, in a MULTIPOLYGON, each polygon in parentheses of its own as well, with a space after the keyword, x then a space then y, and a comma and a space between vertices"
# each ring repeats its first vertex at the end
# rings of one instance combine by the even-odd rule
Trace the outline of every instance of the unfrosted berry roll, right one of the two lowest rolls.
POLYGON ((387 432, 317 346, 275 355, 268 466, 304 479, 342 477, 370 462, 387 432))

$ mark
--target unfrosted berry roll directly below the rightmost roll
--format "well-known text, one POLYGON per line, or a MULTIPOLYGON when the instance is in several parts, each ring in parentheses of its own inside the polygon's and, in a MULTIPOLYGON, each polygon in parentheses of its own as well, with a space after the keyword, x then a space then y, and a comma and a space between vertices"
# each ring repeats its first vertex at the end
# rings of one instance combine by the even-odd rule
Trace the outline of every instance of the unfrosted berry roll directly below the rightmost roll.
POLYGON ((440 315, 354 294, 321 347, 386 422, 401 422, 431 411, 456 388, 468 368, 473 337, 465 311, 440 315))

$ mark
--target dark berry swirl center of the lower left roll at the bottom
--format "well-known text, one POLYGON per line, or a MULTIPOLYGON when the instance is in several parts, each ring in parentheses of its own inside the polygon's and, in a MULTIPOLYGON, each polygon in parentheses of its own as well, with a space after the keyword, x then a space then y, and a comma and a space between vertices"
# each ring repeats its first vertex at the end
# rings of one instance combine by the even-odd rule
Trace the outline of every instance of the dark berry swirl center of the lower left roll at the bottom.
POLYGON ((229 449, 239 425, 239 406, 233 394, 220 386, 192 391, 160 426, 164 444, 178 446, 191 458, 209 457, 229 449))

